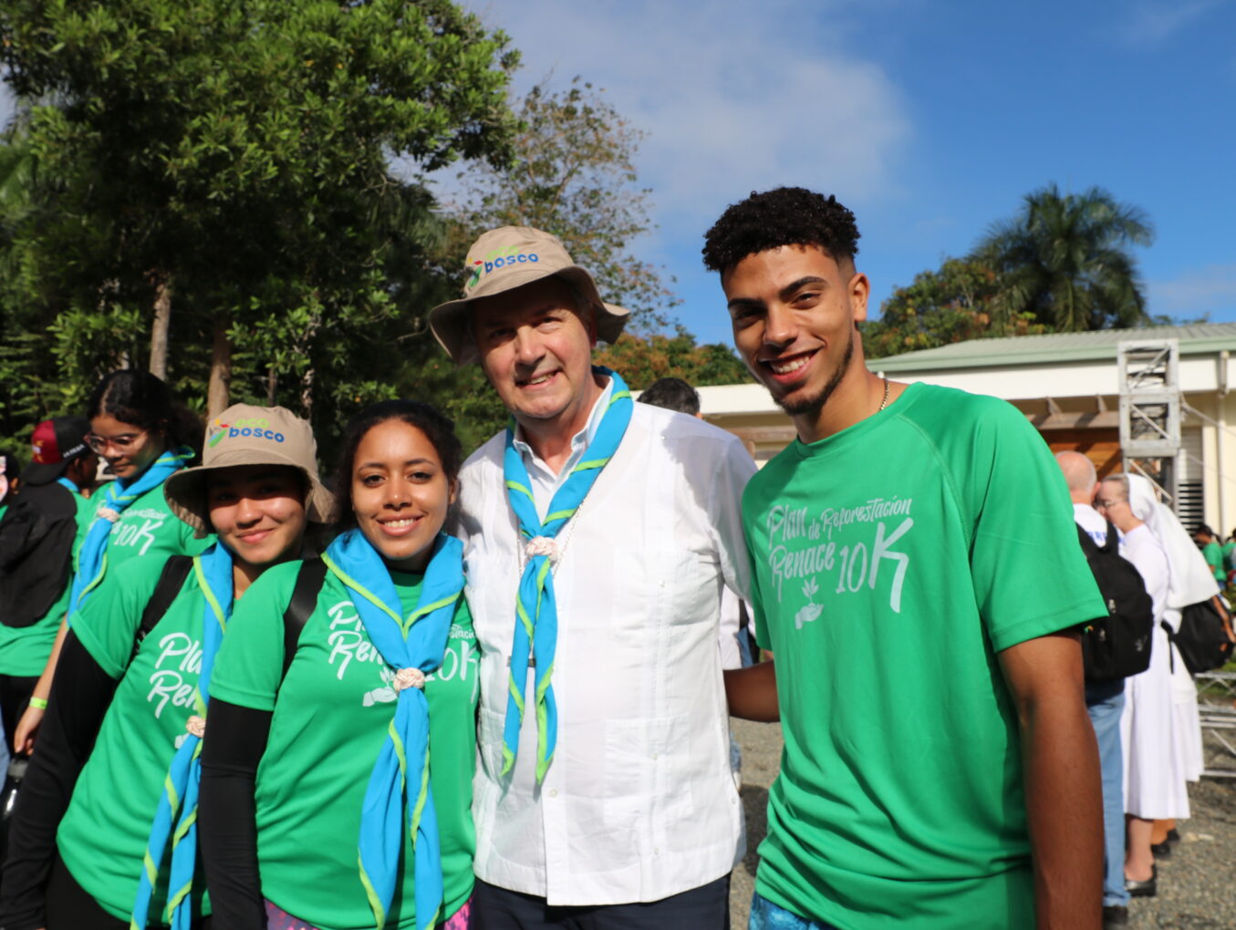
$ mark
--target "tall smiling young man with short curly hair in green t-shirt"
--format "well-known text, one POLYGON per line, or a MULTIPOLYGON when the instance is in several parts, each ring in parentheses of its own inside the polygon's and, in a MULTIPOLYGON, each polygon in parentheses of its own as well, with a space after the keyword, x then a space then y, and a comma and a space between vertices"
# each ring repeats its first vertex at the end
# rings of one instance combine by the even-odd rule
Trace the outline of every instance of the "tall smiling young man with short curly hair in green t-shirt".
POLYGON ((751 928, 1099 928, 1103 816, 1073 627, 1104 611, 1059 469, 993 398, 868 372, 834 198, 709 230, 734 343, 797 440, 751 479, 756 637, 730 711, 777 719, 751 928))

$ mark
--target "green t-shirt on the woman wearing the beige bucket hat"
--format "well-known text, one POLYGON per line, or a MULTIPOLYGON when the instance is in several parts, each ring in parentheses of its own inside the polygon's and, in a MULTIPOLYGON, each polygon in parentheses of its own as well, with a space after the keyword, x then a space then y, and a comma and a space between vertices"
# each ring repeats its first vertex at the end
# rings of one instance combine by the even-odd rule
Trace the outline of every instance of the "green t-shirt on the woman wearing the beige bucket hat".
MULTIPOLYGON (((130 663, 163 562, 131 558, 114 567, 73 620, 73 632, 94 661, 112 678, 124 678, 61 821, 57 845, 78 884, 126 921, 163 781, 184 740, 201 672, 204 603, 194 572, 130 663)), ((159 872, 152 915, 162 914, 167 902, 168 862, 164 858, 159 872)), ((204 889, 199 869, 194 914, 203 913, 204 889)))

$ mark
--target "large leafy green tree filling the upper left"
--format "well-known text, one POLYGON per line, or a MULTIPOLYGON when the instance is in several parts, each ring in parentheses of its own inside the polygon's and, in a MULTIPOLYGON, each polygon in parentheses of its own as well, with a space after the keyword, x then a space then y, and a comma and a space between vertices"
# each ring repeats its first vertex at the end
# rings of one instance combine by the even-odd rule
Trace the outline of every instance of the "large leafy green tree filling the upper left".
POLYGON ((211 409, 278 401, 324 435, 389 395, 388 262, 431 275, 444 235, 389 159, 506 157, 504 42, 450 0, 6 2, 47 206, 14 248, 69 403, 121 361, 199 404, 210 369, 211 409))

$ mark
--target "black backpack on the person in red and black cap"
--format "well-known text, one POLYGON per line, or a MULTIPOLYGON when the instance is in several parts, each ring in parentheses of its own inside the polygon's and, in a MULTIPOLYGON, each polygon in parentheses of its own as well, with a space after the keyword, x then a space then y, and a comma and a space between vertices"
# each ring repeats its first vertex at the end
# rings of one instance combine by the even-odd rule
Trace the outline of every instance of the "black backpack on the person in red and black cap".
POLYGON ((0 622, 22 629, 47 615, 69 583, 75 536, 73 492, 22 488, 0 520, 0 622))

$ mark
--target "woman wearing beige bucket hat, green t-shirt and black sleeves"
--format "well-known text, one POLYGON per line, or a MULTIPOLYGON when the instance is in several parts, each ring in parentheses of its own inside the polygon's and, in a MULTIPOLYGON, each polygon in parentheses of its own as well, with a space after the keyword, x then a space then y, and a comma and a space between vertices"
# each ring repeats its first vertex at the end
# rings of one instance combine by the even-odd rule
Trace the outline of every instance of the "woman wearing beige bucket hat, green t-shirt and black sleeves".
POLYGON ((234 603, 329 516, 315 452, 304 420, 236 405, 208 427, 203 464, 164 482, 172 513, 215 541, 192 558, 130 559, 74 618, 15 815, 0 925, 210 926, 194 882, 210 673, 234 603))

